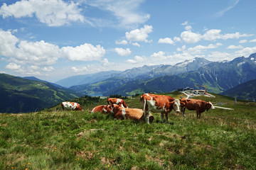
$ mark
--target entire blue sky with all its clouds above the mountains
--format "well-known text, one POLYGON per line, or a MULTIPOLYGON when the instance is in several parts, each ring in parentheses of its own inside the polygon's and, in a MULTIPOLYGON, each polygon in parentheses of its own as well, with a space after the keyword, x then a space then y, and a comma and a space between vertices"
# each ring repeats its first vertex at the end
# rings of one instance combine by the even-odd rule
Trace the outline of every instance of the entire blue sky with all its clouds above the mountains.
POLYGON ((0 72, 78 74, 256 52, 254 0, 0 0, 0 72))

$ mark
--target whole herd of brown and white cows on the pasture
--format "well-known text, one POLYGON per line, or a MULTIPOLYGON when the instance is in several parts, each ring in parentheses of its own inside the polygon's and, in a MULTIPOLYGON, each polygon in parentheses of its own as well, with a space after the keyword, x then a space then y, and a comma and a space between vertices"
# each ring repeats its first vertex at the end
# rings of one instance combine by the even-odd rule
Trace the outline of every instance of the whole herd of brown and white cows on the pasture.
MULTIPOLYGON (((127 104, 121 98, 107 98, 107 105, 96 106, 92 108, 91 113, 109 113, 114 115, 114 118, 123 120, 145 120, 146 123, 151 123, 154 120, 153 113, 161 113, 161 122, 164 123, 164 115, 166 123, 168 123, 168 113, 173 109, 176 113, 182 113, 185 115, 186 108, 189 111, 196 111, 196 117, 200 118, 201 113, 208 111, 210 108, 214 109, 212 103, 192 99, 192 98, 181 98, 181 100, 174 99, 170 96, 155 95, 155 94, 143 94, 140 99, 142 109, 139 108, 128 108, 127 104), (181 107, 181 110, 180 110, 181 107)), ((73 111, 83 111, 79 103, 75 102, 62 102, 63 108, 69 108, 73 111)))

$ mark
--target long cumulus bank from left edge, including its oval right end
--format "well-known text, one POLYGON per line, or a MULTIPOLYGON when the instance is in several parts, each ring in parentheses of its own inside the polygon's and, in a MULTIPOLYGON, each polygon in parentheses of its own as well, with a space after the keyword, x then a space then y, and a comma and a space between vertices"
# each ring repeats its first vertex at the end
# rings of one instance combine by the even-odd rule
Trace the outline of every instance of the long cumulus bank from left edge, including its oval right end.
MULTIPOLYGON (((18 64, 50 65, 60 57, 71 61, 100 61, 105 49, 100 45, 83 44, 77 47, 58 47, 52 43, 41 41, 28 42, 18 40, 9 31, 0 30, 0 55, 9 57, 9 62, 18 64)), ((45 71, 53 70, 46 67, 45 71)))

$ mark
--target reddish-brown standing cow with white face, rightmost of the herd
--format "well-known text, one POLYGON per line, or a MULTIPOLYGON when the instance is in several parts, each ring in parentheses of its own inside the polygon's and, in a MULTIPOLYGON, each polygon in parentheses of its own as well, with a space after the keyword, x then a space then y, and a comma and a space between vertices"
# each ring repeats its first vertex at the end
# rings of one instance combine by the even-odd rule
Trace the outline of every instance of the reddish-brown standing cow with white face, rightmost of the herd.
POLYGON ((208 111, 210 108, 215 109, 210 101, 206 102, 199 99, 181 98, 180 103, 182 115, 185 115, 185 110, 187 108, 189 111, 196 111, 196 118, 200 118, 201 113, 208 111))

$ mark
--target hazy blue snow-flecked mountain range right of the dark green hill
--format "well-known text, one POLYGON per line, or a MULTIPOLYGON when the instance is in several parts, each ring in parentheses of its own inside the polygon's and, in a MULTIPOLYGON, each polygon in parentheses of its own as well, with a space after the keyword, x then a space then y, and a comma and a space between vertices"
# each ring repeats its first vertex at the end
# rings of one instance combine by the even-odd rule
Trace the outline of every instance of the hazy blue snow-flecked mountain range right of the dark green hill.
POLYGON ((256 79, 256 53, 250 57, 237 57, 230 62, 210 62, 203 58, 195 58, 174 66, 144 66, 120 72, 116 76, 92 84, 71 86, 69 89, 92 96, 131 96, 149 91, 174 91, 186 86, 198 88, 195 86, 197 84, 207 86, 207 91, 218 94, 256 79), (129 72, 133 72, 133 76, 128 76, 129 72))

